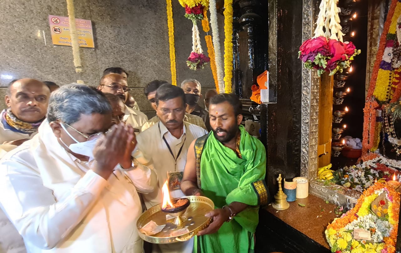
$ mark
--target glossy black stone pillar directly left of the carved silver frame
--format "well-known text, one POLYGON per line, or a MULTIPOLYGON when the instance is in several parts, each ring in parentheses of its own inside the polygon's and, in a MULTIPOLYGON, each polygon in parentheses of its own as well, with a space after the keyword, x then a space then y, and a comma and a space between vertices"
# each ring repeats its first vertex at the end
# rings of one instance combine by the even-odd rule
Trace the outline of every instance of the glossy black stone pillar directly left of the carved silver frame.
POLYGON ((276 178, 300 176, 302 0, 269 0, 269 85, 277 103, 267 104, 267 176, 274 195, 276 178))

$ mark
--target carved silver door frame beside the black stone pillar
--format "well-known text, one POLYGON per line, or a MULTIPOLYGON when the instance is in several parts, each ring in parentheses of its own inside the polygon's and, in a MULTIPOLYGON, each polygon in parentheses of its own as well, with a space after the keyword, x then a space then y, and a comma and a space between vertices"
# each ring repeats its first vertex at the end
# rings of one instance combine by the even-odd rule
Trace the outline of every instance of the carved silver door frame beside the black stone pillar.
MULTIPOLYGON (((320 0, 302 2, 302 41, 312 38, 320 0)), ((318 169, 320 78, 302 66, 301 176, 309 179, 309 192, 337 205, 356 203, 360 193, 340 185, 327 186, 315 180, 318 169)))

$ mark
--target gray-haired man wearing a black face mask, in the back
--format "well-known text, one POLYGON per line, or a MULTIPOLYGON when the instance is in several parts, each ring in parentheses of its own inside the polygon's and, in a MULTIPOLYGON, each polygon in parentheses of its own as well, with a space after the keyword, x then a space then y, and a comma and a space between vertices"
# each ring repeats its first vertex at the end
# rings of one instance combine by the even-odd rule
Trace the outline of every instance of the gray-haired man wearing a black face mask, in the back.
POLYGON ((182 81, 181 88, 185 93, 186 112, 201 117, 205 122, 207 131, 211 131, 209 112, 198 104, 202 98, 201 83, 196 79, 187 79, 182 81))

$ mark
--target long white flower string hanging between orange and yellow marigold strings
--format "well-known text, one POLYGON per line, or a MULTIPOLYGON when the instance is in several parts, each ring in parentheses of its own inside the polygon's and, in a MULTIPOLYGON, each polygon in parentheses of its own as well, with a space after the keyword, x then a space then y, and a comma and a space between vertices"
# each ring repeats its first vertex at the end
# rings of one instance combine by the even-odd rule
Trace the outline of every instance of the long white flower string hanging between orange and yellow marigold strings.
POLYGON ((219 27, 217 26, 216 0, 210 0, 209 11, 210 11, 210 24, 211 24, 212 35, 213 35, 213 47, 215 48, 217 81, 218 81, 220 93, 224 93, 224 71, 223 71, 223 64, 221 62, 219 27))

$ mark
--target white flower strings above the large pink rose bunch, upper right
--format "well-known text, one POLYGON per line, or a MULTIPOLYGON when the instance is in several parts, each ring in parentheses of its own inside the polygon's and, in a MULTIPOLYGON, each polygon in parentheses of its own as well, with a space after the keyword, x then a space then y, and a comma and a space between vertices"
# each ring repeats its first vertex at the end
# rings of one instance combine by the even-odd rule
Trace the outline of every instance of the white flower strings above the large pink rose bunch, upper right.
POLYGON ((340 25, 340 17, 338 16, 340 8, 337 7, 337 3, 338 0, 322 0, 322 2, 320 2, 320 12, 314 31, 315 38, 324 36, 328 39, 330 38, 342 42, 342 36, 344 36, 344 34, 341 32, 342 27, 340 25))

